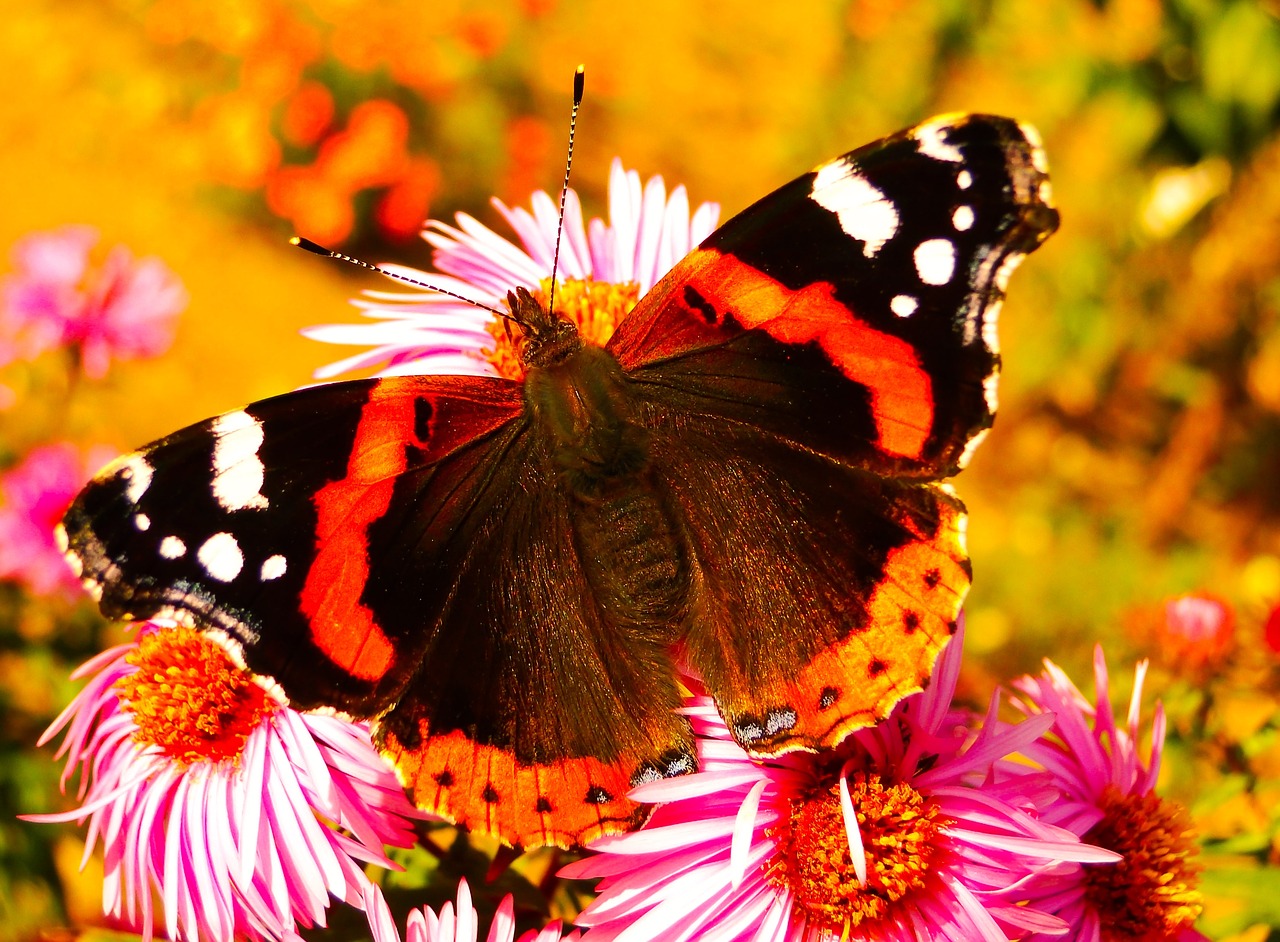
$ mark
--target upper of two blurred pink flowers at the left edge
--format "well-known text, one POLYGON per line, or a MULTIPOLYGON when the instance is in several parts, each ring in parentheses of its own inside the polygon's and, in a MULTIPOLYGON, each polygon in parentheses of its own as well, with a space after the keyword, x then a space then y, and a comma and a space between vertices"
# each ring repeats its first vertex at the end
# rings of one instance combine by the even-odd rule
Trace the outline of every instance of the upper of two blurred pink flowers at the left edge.
POLYGON ((92 265, 97 233, 68 225, 14 246, 14 274, 3 282, 0 361, 55 347, 79 351, 84 372, 106 374, 113 358, 164 352, 187 306, 182 282, 159 259, 134 259, 124 246, 92 265))

